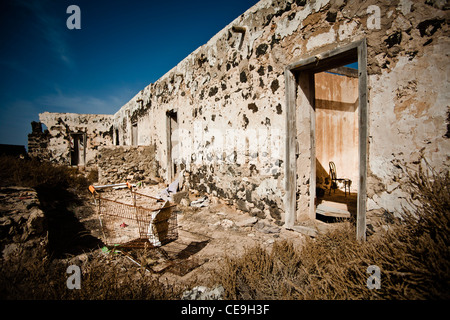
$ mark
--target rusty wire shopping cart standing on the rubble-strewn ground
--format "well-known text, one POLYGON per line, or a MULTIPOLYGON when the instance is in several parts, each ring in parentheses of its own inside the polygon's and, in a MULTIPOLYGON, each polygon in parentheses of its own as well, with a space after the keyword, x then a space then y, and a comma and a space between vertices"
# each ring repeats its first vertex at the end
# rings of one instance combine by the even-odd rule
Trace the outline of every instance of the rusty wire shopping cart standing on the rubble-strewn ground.
POLYGON ((158 248, 178 239, 175 204, 133 190, 131 184, 89 186, 95 199, 103 242, 118 248, 158 248), (108 199, 103 189, 124 187, 129 202, 108 199), (102 191, 100 191, 102 190, 102 191), (138 205, 141 204, 142 205, 138 205))

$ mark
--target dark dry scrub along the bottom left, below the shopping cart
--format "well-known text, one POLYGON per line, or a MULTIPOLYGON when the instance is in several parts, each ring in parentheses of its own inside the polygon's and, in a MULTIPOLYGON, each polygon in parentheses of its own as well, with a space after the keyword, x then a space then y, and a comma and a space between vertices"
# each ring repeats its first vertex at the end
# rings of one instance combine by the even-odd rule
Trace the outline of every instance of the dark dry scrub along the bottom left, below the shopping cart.
POLYGON ((170 300, 184 288, 163 284, 124 257, 94 254, 81 268, 81 288, 68 289, 71 262, 49 259, 0 260, 1 299, 39 300, 170 300))

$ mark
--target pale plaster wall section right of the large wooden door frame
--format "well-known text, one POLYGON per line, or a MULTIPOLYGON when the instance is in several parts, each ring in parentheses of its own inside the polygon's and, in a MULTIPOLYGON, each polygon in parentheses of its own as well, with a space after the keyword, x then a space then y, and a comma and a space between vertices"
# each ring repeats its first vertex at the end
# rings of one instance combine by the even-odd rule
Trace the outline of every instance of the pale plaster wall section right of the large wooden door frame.
POLYGON ((425 161, 437 171, 449 167, 450 46, 447 37, 434 41, 414 63, 410 57, 399 57, 391 72, 370 77, 369 99, 379 107, 371 108, 369 117, 368 210, 409 207, 405 168, 426 168, 425 161))

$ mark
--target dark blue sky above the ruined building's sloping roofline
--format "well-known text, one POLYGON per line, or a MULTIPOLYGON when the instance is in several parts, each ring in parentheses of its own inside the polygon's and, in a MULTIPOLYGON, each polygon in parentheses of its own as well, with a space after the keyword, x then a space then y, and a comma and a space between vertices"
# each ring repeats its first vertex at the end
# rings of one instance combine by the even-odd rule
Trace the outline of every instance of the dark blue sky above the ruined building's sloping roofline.
POLYGON ((2 0, 0 144, 26 146, 40 112, 115 113, 257 2, 2 0))

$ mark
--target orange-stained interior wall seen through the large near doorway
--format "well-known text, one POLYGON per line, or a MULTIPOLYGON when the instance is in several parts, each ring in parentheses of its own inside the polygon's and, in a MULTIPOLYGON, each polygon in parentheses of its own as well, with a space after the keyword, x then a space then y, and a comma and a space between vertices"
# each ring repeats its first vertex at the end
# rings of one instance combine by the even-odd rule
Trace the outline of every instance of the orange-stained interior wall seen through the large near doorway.
POLYGON ((358 190, 358 78, 321 72, 315 74, 316 177, 329 176, 329 162, 337 178, 352 180, 358 190))

